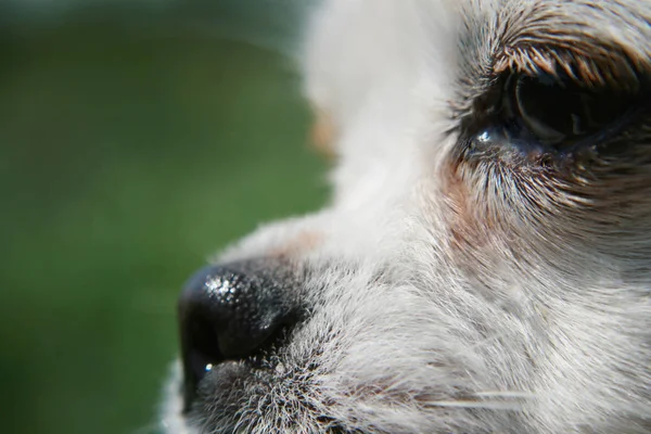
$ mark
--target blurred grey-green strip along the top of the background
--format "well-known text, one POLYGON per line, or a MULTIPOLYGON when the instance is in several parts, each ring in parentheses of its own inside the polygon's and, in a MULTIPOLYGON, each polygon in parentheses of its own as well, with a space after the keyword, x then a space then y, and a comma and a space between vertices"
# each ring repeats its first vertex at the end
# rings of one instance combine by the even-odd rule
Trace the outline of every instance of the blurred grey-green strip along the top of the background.
POLYGON ((138 29, 167 26, 253 41, 294 52, 305 15, 320 0, 2 0, 0 29, 113 23, 138 29))

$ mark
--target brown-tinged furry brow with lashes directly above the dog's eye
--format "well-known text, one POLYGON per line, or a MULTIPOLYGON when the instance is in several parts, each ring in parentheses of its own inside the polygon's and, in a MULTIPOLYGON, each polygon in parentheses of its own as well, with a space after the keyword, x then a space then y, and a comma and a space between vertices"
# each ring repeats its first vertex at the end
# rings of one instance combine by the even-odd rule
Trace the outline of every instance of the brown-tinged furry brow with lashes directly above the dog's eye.
MULTIPOLYGON (((467 0, 457 18, 455 104, 463 111, 505 71, 567 71, 600 85, 651 71, 651 2, 467 0)), ((432 24, 430 24, 431 26, 432 24)), ((441 49, 441 48, 439 48, 441 49)))

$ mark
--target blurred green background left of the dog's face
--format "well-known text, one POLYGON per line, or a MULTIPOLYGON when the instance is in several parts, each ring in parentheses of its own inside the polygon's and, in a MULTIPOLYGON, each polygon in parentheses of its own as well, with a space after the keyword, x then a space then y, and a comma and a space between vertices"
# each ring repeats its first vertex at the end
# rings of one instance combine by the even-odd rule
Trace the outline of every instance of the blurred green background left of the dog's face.
POLYGON ((279 54, 299 13, 0 5, 3 433, 155 432, 184 279, 259 222, 323 202, 279 54))

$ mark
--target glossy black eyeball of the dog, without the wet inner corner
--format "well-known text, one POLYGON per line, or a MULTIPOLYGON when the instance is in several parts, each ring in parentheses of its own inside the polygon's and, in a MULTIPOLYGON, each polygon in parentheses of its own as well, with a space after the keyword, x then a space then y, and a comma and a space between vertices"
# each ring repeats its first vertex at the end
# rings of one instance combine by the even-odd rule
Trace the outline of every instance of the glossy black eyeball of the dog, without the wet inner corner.
POLYGON ((511 111, 541 144, 573 142, 616 120, 631 98, 608 88, 587 88, 570 79, 520 76, 509 80, 511 111), (514 82, 513 82, 514 81, 514 82))

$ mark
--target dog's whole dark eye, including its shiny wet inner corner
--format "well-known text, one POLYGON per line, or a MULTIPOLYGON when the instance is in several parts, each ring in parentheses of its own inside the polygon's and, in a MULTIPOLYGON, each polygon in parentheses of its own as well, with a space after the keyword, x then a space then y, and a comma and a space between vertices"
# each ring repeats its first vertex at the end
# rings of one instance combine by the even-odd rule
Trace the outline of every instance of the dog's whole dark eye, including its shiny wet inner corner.
POLYGON ((475 105, 475 141, 525 153, 567 152, 617 128, 639 105, 638 94, 567 76, 511 74, 475 105))

